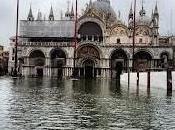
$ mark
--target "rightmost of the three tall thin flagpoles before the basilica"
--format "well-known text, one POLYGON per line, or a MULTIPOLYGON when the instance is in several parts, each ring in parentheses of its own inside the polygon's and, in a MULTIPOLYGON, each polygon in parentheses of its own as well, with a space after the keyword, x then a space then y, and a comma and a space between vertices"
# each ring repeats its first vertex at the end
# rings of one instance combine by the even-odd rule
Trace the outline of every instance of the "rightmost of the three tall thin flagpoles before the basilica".
POLYGON ((132 68, 134 71, 134 54, 135 54, 135 34, 136 34, 136 3, 137 1, 134 0, 134 24, 133 24, 133 54, 132 54, 132 68))

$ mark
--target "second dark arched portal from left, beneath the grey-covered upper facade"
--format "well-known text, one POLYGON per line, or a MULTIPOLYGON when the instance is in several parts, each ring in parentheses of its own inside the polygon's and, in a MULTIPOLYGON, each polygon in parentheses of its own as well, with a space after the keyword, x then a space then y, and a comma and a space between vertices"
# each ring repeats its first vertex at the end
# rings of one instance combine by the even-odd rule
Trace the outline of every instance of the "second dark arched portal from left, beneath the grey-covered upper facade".
POLYGON ((63 67, 66 64, 66 54, 61 49, 54 49, 50 53, 52 77, 63 77, 63 67))

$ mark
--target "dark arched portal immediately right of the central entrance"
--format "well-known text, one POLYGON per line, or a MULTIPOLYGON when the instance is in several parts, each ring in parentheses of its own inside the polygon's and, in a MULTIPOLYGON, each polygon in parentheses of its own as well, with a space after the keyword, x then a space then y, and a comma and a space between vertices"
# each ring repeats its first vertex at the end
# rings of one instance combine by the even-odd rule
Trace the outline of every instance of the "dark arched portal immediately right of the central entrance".
POLYGON ((111 76, 112 78, 118 79, 122 74, 122 71, 127 70, 128 66, 128 56, 124 50, 118 49, 112 52, 111 54, 111 76))

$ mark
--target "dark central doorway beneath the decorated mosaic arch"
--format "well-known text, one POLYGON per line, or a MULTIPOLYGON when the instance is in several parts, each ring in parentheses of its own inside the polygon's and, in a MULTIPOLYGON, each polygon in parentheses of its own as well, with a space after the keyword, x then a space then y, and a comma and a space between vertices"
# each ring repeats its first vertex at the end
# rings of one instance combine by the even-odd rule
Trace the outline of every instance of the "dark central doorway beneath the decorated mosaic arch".
POLYGON ((94 73, 95 64, 94 64, 93 60, 90 60, 90 59, 86 60, 83 63, 83 67, 84 67, 84 77, 86 79, 92 79, 92 78, 96 77, 96 75, 94 73))

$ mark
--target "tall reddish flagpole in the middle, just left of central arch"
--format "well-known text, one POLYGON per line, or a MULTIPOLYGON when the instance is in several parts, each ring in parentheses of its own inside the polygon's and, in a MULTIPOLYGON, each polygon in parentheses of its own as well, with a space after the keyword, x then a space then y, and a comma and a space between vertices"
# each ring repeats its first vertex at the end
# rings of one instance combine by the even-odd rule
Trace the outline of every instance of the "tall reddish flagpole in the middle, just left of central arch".
POLYGON ((76 61, 76 48, 77 48, 77 20, 78 20, 78 13, 77 12, 78 12, 78 1, 76 0, 73 77, 76 76, 75 61, 76 61))

